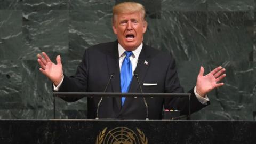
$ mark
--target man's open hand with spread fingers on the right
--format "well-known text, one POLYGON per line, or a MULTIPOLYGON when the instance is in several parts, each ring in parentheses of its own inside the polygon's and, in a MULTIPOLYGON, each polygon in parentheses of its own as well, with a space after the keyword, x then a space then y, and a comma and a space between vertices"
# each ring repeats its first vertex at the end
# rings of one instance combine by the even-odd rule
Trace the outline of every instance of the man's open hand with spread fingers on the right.
POLYGON ((204 67, 200 67, 196 81, 196 92, 205 97, 213 89, 224 85, 224 83, 219 82, 226 76, 225 71, 225 68, 219 66, 204 76, 204 67))

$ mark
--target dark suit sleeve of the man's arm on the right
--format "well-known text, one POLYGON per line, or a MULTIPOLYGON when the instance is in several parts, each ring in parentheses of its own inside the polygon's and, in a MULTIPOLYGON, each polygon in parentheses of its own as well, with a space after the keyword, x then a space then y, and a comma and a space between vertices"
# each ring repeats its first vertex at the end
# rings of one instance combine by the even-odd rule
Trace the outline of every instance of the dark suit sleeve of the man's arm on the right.
MULTIPOLYGON (((169 66, 166 72, 165 78, 165 93, 184 93, 183 87, 180 85, 177 68, 175 64, 175 60, 173 58, 169 61, 169 66)), ((207 105, 203 105, 199 102, 196 98, 194 93, 194 89, 188 91, 190 93, 190 104, 191 104, 191 113, 202 109, 207 105)), ((165 109, 173 109, 173 110, 180 110, 180 115, 188 115, 188 108, 189 108, 189 100, 188 98, 166 98, 164 99, 164 108, 165 109)))

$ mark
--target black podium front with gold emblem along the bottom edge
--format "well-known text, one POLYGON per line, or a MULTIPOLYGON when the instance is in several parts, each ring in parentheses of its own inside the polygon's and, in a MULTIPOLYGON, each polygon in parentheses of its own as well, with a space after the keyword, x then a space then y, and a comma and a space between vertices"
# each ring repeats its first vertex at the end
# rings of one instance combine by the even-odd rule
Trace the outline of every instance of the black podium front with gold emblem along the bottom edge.
POLYGON ((1 120, 0 143, 256 143, 255 121, 1 120))

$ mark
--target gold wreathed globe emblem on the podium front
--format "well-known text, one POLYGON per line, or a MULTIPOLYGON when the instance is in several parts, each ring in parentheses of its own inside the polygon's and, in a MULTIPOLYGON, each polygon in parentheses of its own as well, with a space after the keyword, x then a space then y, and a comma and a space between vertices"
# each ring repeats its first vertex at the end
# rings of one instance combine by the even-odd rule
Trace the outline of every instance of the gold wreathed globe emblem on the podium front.
POLYGON ((116 127, 107 132, 107 127, 100 131, 96 144, 147 144, 148 138, 138 128, 137 134, 127 127, 116 127))

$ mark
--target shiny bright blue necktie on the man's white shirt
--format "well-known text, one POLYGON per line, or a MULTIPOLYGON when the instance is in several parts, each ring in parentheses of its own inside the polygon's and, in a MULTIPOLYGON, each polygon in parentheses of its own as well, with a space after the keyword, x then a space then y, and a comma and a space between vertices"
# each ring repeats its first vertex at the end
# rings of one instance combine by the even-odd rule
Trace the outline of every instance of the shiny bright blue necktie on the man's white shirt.
MULTIPOLYGON (((132 52, 125 51, 126 54, 120 72, 121 92, 126 93, 129 91, 130 83, 132 81, 132 63, 130 57, 132 52)), ((125 97, 122 97, 122 106, 124 105, 125 97)))

